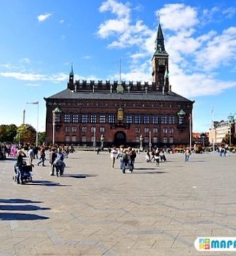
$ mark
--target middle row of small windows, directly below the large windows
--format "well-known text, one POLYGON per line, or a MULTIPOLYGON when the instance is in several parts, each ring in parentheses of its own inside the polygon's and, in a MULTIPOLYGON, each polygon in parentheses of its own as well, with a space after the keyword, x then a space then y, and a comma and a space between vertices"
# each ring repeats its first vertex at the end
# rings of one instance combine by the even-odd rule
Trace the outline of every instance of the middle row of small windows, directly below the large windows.
MULTIPOLYGON (((74 132, 75 133, 75 132, 78 132, 78 128, 77 127, 69 127, 68 126, 68 127, 65 127, 64 131, 67 132, 67 133, 69 133, 69 132, 74 132)), ((86 133, 86 132, 88 132, 87 127, 82 127, 82 133, 86 133)), ((96 132, 96 127, 91 127, 90 132, 91 133, 96 132)), ((104 133, 105 132, 105 127, 99 127, 99 132, 104 133)), ((136 128, 135 132, 136 133, 140 133, 141 129, 140 128, 136 128)), ((159 133, 159 129, 157 127, 154 127, 152 129, 152 131, 149 128, 145 128, 144 129, 144 133, 145 134, 149 134, 149 132, 152 132, 153 134, 158 134, 159 133)), ((162 128, 162 133, 163 134, 174 134, 174 128, 164 127, 164 128, 162 128)))

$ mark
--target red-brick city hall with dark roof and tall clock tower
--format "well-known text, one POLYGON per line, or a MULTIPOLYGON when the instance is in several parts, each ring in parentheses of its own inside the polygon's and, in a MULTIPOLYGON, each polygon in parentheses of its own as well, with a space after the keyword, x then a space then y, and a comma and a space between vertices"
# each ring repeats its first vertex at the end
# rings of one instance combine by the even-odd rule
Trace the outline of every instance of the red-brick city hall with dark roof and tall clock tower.
POLYGON ((152 82, 74 80, 45 98, 46 142, 79 146, 189 144, 193 101, 172 92, 159 24, 152 82))

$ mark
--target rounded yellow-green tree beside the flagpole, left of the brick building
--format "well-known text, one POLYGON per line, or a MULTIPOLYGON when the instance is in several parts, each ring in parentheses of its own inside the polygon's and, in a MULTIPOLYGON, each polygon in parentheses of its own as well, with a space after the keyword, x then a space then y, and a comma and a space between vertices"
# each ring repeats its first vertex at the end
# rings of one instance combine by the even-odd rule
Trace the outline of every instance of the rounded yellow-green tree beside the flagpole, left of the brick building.
POLYGON ((33 144, 36 139, 36 130, 30 124, 21 124, 16 132, 15 140, 20 144, 33 144))

